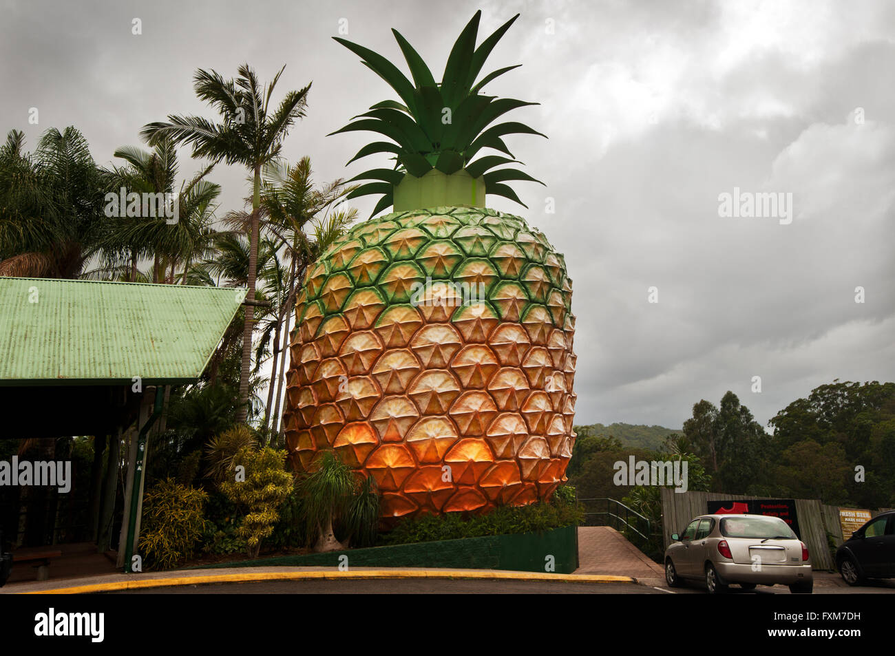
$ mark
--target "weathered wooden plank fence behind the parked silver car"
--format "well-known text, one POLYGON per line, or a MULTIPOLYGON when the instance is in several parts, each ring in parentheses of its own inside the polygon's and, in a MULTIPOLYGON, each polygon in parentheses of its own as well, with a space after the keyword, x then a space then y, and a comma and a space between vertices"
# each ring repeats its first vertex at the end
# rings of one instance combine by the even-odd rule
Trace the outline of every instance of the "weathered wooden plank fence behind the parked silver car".
MULTIPOLYGON (((708 501, 742 501, 750 497, 742 494, 719 494, 717 492, 675 492, 671 488, 661 489, 662 499, 662 539, 664 546, 671 543, 671 533, 684 530, 694 517, 705 515, 708 501)), ((833 555, 827 542, 831 533, 838 547, 842 543, 842 526, 838 506, 825 506, 816 498, 797 498, 796 514, 801 539, 811 554, 814 569, 836 569, 833 555)))

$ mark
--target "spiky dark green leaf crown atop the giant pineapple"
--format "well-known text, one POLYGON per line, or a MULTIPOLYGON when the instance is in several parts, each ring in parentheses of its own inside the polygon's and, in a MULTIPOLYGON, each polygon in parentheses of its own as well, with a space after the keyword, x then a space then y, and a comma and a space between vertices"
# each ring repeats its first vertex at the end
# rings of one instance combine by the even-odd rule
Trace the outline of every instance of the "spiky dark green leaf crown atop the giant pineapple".
POLYGON ((485 84, 522 65, 516 64, 498 69, 485 75, 482 80, 475 81, 482 72, 485 59, 519 14, 501 25, 489 38, 482 41, 479 47, 475 47, 481 17, 482 12, 476 12, 456 39, 447 57, 447 65, 440 84, 432 77, 422 57, 397 30, 392 32, 410 67, 413 81, 408 80, 395 64, 382 55, 345 38, 333 37, 355 55, 360 56, 362 64, 388 82, 403 101, 379 102, 371 106, 367 112, 354 116, 352 123, 345 125, 341 130, 330 132, 330 134, 354 131, 378 132, 391 140, 369 143, 348 161, 348 164, 351 164, 356 159, 377 153, 391 153, 392 159, 395 160, 393 169, 373 168, 355 175, 350 181, 373 182, 359 186, 347 196, 348 199, 367 194, 382 194, 371 216, 393 204, 394 187, 405 175, 422 177, 432 169, 447 175, 465 169, 473 178, 483 176, 487 193, 504 196, 523 207, 527 206, 505 183, 514 180, 541 183, 540 180, 516 168, 504 167, 492 170, 496 166, 522 164, 514 158, 506 142, 503 141, 503 137, 507 134, 539 134, 542 137, 546 135, 515 121, 491 125, 500 116, 513 109, 540 103, 485 96, 481 93, 485 84), (508 157, 485 155, 473 161, 482 149, 498 150, 508 157))

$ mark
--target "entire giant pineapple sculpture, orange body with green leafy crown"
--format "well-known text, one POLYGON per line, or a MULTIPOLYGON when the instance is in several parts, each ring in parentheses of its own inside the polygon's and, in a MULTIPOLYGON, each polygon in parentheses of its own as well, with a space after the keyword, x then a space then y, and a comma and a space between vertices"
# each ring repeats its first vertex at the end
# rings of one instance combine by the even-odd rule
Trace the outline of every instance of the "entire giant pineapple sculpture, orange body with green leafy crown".
MULTIPOLYGON (((307 469, 323 449, 372 475, 384 517, 482 512, 547 498, 575 433, 572 281, 563 256, 521 217, 485 209, 485 193, 521 203, 506 184, 534 179, 489 125, 519 106, 482 95, 485 58, 516 17, 475 47, 481 13, 457 39, 439 84, 395 38, 413 76, 361 56, 403 102, 386 100, 340 131, 375 141, 351 160, 391 153, 394 168, 350 197, 381 194, 308 272, 296 305, 287 374, 286 442, 307 469), (475 159, 482 149, 503 155, 475 159)), ((537 182, 537 181, 534 181, 537 182)))

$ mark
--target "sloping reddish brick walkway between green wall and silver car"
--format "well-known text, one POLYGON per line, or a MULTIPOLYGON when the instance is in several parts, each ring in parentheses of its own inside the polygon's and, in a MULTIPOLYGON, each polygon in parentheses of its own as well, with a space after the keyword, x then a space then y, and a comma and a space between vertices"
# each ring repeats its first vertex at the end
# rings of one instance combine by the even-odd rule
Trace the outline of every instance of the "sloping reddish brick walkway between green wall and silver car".
POLYGON ((578 569, 575 574, 634 576, 649 584, 655 579, 662 583, 665 580, 660 565, 609 526, 578 527, 578 569))

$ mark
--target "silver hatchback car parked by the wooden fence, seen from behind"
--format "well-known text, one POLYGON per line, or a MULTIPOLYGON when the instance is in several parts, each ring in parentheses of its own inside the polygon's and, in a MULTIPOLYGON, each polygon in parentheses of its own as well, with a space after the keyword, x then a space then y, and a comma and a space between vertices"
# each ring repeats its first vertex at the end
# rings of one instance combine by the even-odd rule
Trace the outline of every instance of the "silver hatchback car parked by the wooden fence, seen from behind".
POLYGON ((665 550, 665 580, 678 586, 704 581, 709 592, 727 592, 729 584, 788 585, 793 593, 814 590, 811 558, 805 542, 780 517, 702 515, 671 535, 665 550))

